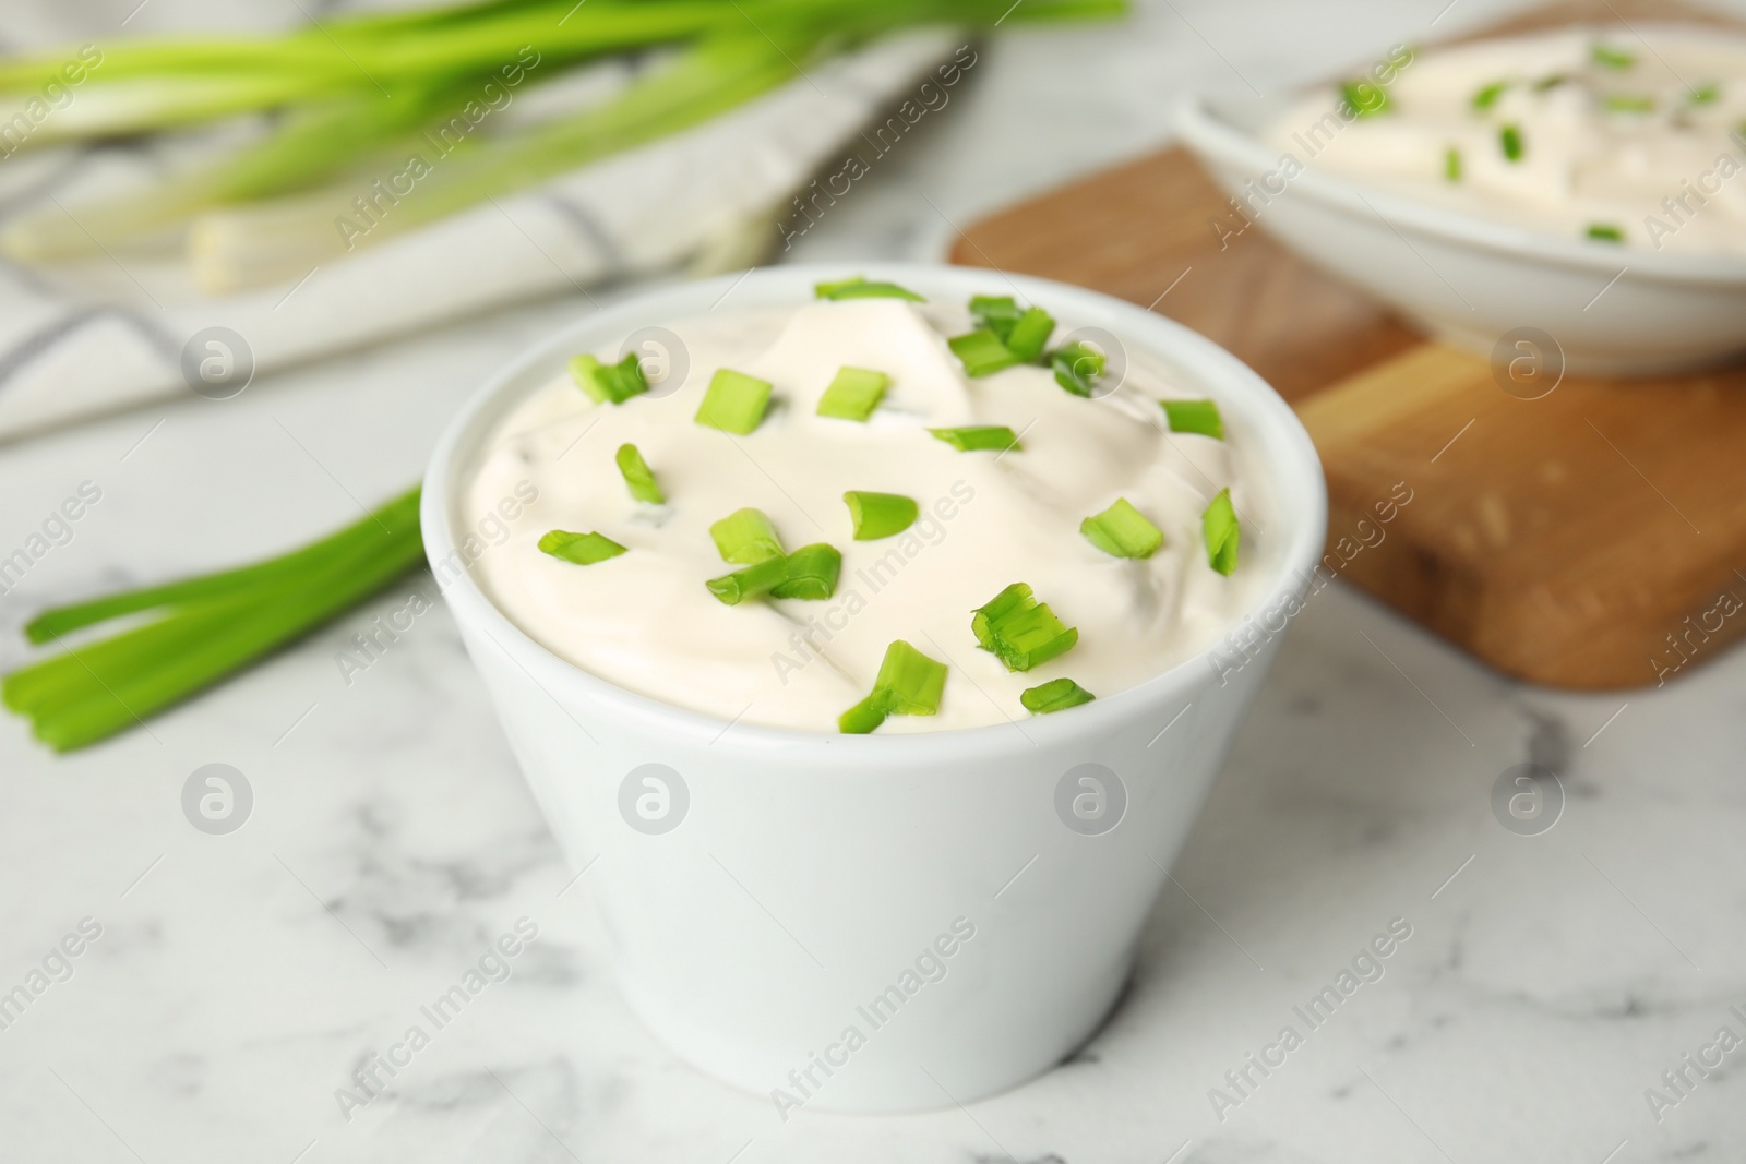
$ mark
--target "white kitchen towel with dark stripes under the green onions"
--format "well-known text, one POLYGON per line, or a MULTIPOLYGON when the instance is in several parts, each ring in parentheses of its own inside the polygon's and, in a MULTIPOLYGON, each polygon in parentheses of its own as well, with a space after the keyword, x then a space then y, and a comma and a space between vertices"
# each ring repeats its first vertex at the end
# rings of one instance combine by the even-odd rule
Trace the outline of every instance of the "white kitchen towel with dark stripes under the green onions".
MULTIPOLYGON (((257 372, 711 251, 725 265, 753 262, 780 244, 794 194, 833 171, 847 141, 868 154, 857 138, 868 120, 964 56, 960 44, 948 30, 880 40, 704 126, 286 272, 274 286, 204 293, 180 251, 0 264, 0 442, 190 391, 232 394, 257 372)), ((187 147, 7 154, 0 222, 161 173, 175 148, 187 147)))

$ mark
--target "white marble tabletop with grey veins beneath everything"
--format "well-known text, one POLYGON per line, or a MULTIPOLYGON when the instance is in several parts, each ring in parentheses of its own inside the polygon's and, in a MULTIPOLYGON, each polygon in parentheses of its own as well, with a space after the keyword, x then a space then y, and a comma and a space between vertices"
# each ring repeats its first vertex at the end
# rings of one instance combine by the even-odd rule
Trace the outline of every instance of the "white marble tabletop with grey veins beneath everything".
MULTIPOLYGON (((1016 33, 796 251, 915 253, 941 220, 1159 141, 1186 87, 1236 72, 1290 84, 1423 35, 1442 5, 1159 0, 1124 28, 1016 33)), ((1444 21, 1495 7, 1463 0, 1444 21)), ((173 0, 147 12, 175 23, 173 0)), ((388 496, 482 373, 585 307, 505 312, 230 401, 0 450, 0 553, 80 482, 101 489, 73 539, 0 599, 0 667, 24 658, 16 627, 49 597, 227 564, 347 520, 347 494, 388 496)), ((65 979, 0 1028, 0 1157, 1627 1164, 1746 1150, 1746 1049, 1708 1078, 1681 1063, 1718 1028, 1746 1037, 1746 653, 1662 691, 1564 696, 1505 682, 1336 585, 1297 620, 1133 988, 1084 1052, 969 1110, 784 1124, 627 1014, 587 878, 541 825, 447 614, 344 682, 335 653, 417 585, 70 757, 0 721, 0 998, 45 958, 65 979), (1568 794, 1538 836, 1491 808, 1498 775, 1526 761, 1568 794), (253 789, 227 836, 182 811, 208 763, 253 789), (520 918, 538 937, 512 976, 347 1120, 335 1091, 365 1056, 520 918), (1383 977, 1310 1030, 1294 1007, 1395 918, 1411 937, 1383 977), (79 955, 51 956, 63 941, 79 955), (1226 1073, 1287 1024, 1303 1044, 1234 1089, 1226 1073), (1683 1096, 1669 1070, 1692 1080, 1683 1096), (1678 1103, 1652 1112, 1650 1087, 1678 1103)))

